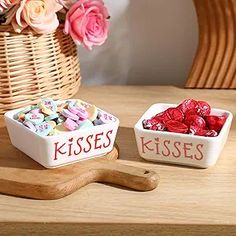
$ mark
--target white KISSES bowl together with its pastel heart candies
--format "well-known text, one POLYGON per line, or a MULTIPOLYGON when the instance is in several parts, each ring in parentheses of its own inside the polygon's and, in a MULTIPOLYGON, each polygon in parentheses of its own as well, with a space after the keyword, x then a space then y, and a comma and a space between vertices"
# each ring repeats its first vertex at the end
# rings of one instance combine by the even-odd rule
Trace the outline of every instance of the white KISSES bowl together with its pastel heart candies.
POLYGON ((46 168, 102 156, 113 149, 119 119, 79 99, 42 99, 5 113, 13 146, 46 168))

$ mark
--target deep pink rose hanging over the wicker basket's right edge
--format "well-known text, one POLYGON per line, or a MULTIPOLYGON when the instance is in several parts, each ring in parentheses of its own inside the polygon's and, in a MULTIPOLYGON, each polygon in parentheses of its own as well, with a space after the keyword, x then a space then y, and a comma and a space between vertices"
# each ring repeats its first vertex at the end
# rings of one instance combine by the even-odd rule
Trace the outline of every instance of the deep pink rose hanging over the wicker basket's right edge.
POLYGON ((79 0, 68 11, 65 33, 88 49, 107 39, 109 14, 102 0, 79 0))

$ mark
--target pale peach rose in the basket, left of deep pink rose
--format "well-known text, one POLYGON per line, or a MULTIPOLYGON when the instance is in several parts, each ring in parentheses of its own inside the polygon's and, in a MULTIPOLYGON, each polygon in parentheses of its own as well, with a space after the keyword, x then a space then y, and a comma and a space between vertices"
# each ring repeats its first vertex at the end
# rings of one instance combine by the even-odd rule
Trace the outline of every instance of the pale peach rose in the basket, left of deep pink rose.
POLYGON ((39 34, 50 33, 59 25, 56 12, 61 8, 55 0, 22 0, 12 20, 12 26, 18 33, 27 26, 39 34))

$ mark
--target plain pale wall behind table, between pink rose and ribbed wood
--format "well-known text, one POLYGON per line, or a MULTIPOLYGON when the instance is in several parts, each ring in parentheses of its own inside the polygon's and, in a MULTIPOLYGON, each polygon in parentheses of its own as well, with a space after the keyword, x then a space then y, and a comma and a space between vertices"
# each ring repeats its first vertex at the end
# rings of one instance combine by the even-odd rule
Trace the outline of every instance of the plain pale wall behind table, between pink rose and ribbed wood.
POLYGON ((197 46, 192 0, 105 0, 109 39, 80 48, 83 84, 183 85, 197 46))

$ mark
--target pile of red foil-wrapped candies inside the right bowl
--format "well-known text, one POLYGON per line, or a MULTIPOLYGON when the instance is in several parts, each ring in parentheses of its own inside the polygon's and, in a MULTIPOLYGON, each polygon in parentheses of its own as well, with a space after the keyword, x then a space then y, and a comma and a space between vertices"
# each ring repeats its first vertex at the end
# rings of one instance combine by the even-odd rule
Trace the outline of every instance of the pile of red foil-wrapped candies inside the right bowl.
POLYGON ((227 117, 210 115, 211 107, 205 101, 186 99, 177 107, 143 120, 143 128, 206 137, 216 137, 227 117))

